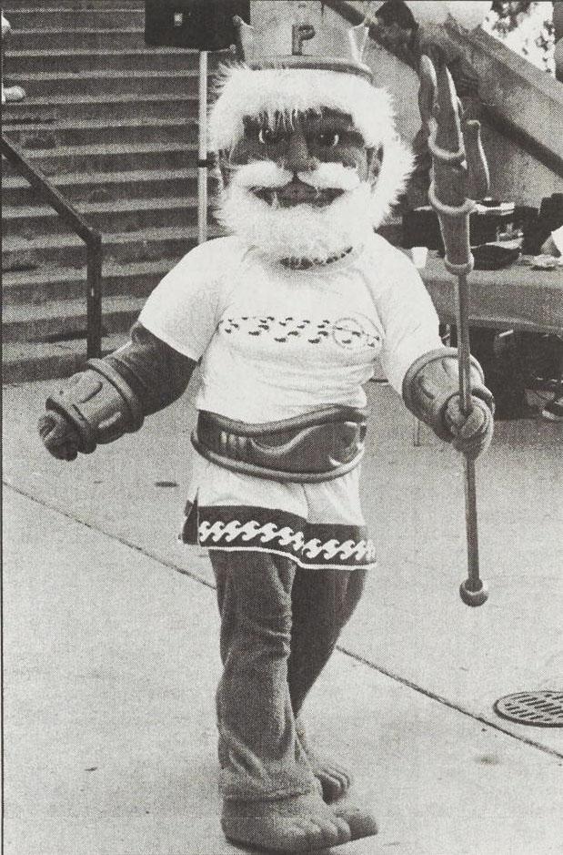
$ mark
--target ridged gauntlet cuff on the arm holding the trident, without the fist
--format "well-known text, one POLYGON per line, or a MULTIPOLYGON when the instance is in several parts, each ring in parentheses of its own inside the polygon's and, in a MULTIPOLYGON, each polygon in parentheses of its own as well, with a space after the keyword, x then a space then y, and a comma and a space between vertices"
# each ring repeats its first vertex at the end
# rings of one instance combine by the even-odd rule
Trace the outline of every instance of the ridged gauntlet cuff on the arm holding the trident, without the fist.
MULTIPOLYGON (((408 369, 403 381, 403 400, 417 419, 428 424, 440 439, 451 442, 454 434, 447 421, 447 405, 459 394, 456 348, 424 353, 408 369)), ((494 412, 494 399, 484 385, 483 369, 471 357, 471 395, 494 412)))

